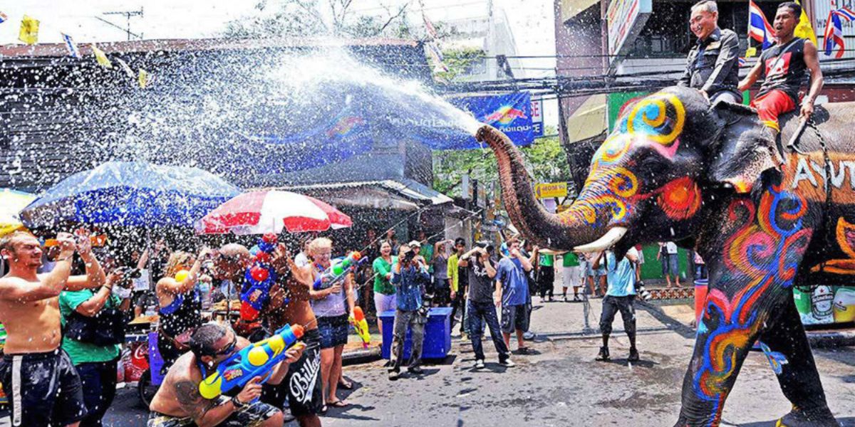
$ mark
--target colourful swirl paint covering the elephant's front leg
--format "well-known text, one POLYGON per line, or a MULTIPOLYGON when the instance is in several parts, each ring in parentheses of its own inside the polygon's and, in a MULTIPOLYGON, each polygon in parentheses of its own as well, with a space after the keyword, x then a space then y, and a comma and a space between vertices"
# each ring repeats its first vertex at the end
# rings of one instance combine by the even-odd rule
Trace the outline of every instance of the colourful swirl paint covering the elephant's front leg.
POLYGON ((805 197, 769 188, 757 204, 749 198, 734 200, 728 218, 738 224, 724 247, 722 283, 742 283, 732 294, 725 287, 710 291, 698 326, 698 342, 704 349, 695 360, 700 367, 694 378, 694 392, 701 401, 711 402, 711 425, 719 422, 722 402, 740 365, 738 353, 757 339, 768 313, 758 309, 758 301, 768 298, 770 288, 780 293, 793 286, 798 260, 805 253, 812 230, 805 227, 805 197))

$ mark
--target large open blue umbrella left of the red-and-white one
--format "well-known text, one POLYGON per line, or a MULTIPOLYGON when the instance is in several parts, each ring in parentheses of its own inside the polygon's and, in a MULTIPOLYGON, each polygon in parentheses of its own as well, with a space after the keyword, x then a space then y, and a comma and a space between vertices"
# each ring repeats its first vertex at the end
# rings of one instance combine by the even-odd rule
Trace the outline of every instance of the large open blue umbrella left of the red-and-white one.
POLYGON ((27 227, 72 221, 100 225, 186 225, 240 193, 195 167, 108 161, 54 185, 21 211, 27 227))

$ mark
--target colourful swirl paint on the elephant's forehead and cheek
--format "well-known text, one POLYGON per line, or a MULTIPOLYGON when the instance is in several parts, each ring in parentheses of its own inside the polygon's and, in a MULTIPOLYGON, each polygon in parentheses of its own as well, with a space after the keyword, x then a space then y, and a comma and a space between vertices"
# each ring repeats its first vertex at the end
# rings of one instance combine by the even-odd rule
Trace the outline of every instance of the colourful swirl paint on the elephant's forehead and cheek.
POLYGON ((697 140, 687 133, 693 130, 687 116, 703 118, 705 108, 699 95, 684 102, 672 91, 625 108, 615 131, 593 155, 584 188, 562 213, 564 220, 628 225, 646 205, 657 207, 668 221, 691 219, 702 203, 696 171, 702 158, 697 143, 686 142, 697 140))

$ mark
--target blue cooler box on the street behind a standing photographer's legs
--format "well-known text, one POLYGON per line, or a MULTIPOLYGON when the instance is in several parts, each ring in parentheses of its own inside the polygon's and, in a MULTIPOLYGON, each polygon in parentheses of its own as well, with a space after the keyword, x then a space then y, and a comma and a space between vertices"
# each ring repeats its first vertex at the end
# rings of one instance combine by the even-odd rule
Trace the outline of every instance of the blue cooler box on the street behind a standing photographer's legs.
MULTIPOLYGON (((395 326, 395 311, 380 313, 383 321, 383 359, 392 355, 392 329, 395 326)), ((407 328, 404 337, 404 357, 401 364, 410 360, 412 349, 412 331, 407 328)), ((425 339, 422 344, 422 359, 445 359, 451 351, 451 307, 433 307, 428 311, 428 324, 425 325, 425 339)))

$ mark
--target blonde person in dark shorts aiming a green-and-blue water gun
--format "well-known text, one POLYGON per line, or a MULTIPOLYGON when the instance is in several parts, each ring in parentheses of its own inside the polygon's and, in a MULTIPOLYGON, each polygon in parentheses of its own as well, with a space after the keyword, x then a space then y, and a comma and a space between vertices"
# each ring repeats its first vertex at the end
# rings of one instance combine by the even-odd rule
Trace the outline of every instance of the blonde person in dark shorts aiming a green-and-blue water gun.
MULTIPOLYGON (((312 259, 312 279, 315 280, 331 265, 333 241, 327 237, 318 237, 309 243, 312 259)), ((345 401, 339 400, 335 392, 339 389, 341 377, 341 354, 347 343, 350 329, 347 318, 353 313, 352 274, 348 273, 343 282, 325 285, 321 290, 310 290, 312 310, 317 317, 318 331, 321 333, 321 383, 327 405, 345 407, 345 401)))

